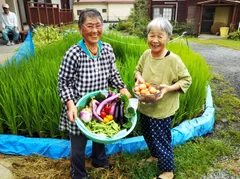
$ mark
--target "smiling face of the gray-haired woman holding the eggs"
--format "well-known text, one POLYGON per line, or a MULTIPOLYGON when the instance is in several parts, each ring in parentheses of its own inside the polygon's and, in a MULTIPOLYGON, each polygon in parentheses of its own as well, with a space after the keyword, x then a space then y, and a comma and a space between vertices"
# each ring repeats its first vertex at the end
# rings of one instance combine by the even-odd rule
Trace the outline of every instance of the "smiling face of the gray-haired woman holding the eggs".
POLYGON ((158 28, 152 28, 148 33, 148 46, 152 54, 159 54, 166 49, 167 42, 170 40, 167 32, 158 28))

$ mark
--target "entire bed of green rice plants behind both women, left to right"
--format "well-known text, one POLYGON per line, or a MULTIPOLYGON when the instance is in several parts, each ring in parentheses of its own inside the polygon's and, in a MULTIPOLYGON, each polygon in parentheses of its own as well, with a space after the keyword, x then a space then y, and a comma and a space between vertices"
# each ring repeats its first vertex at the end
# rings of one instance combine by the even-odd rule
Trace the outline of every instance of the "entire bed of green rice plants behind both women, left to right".
MULTIPOLYGON (((57 91, 57 75, 65 52, 80 39, 78 33, 71 33, 57 43, 38 47, 33 58, 0 67, 0 132, 67 137, 58 130, 62 103, 57 91)), ((148 48, 147 43, 137 37, 116 33, 105 33, 102 40, 113 46, 117 68, 132 92, 134 70, 141 54, 148 48)), ((176 125, 200 115, 211 75, 205 60, 181 41, 169 43, 168 49, 182 58, 193 78, 188 92, 181 95, 180 109, 174 120, 176 125)), ((131 135, 141 135, 138 127, 131 135)))

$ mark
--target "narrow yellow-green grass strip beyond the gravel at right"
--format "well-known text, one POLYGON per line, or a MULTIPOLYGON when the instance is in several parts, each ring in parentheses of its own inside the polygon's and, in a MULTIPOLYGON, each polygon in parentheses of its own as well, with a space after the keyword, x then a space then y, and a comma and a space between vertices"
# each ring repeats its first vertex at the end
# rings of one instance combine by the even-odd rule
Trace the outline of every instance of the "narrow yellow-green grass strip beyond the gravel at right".
POLYGON ((235 50, 240 50, 240 43, 236 40, 229 40, 229 39, 206 39, 200 40, 198 38, 188 38, 189 42, 198 42, 203 44, 214 44, 223 47, 232 48, 235 50))

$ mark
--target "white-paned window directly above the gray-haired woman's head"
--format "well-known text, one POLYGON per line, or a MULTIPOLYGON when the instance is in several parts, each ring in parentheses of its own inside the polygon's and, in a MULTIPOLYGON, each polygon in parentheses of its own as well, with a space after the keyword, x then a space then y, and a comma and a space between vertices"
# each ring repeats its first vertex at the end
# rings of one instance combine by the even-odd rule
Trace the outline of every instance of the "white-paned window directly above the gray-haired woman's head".
POLYGON ((164 17, 167 20, 175 20, 175 8, 172 7, 158 7, 153 8, 153 18, 164 17))

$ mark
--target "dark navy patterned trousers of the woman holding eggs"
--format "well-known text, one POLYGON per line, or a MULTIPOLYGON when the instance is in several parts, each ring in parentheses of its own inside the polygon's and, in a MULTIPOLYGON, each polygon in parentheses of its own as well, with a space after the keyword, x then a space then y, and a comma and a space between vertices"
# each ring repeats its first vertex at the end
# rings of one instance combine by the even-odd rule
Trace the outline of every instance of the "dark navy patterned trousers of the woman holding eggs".
POLYGON ((143 137, 153 157, 158 158, 158 168, 163 172, 175 169, 173 148, 171 145, 171 124, 173 116, 155 119, 140 114, 143 137))

